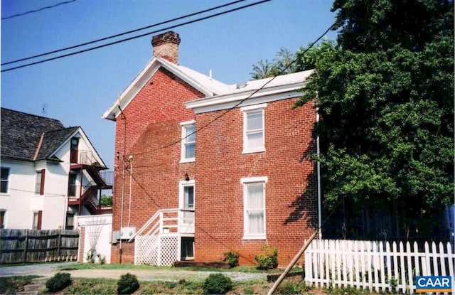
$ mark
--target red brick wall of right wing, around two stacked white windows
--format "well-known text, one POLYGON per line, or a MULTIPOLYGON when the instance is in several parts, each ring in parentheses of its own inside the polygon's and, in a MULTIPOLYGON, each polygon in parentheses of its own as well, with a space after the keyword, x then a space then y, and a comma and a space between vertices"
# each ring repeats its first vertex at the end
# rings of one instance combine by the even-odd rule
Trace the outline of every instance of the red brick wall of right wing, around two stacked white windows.
MULTIPOLYGON (((291 110, 295 100, 269 102, 264 109, 265 152, 242 154, 243 117, 234 109, 196 139, 196 260, 223 258, 240 252, 241 264, 255 264, 266 242, 279 249, 279 264, 289 262, 317 226, 315 164, 311 130, 312 103, 291 110), (240 178, 267 176, 267 240, 242 240, 243 191, 240 178)), ((197 114, 196 127, 220 112, 197 114)))

